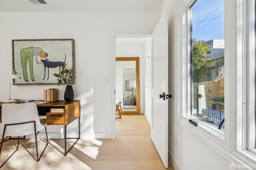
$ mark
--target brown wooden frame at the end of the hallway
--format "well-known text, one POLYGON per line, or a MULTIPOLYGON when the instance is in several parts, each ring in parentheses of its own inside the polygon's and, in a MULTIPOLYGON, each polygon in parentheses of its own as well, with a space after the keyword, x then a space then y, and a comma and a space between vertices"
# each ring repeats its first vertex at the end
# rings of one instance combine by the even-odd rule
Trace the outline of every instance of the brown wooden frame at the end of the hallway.
POLYGON ((116 61, 135 61, 135 67, 136 67, 136 103, 137 103, 136 109, 137 111, 120 111, 120 113, 121 115, 140 115, 140 57, 116 57, 116 61))

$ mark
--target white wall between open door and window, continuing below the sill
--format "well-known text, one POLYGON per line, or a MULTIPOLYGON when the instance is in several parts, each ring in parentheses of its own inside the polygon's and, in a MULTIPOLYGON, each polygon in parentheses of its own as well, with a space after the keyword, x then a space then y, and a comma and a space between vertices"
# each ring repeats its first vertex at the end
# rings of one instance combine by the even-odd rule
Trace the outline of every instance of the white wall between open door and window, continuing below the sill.
POLYGON ((158 16, 169 10, 169 159, 180 170, 227 170, 229 163, 196 136, 178 124, 178 59, 175 54, 175 4, 177 0, 163 0, 158 16), (174 140, 177 140, 177 147, 174 140))

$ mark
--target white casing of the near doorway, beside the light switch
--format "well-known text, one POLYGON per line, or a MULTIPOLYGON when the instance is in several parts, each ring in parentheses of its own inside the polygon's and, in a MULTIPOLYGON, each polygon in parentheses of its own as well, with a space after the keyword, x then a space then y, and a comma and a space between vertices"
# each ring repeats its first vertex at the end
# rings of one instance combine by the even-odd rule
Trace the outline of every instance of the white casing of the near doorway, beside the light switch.
POLYGON ((116 138, 116 38, 117 37, 136 37, 143 38, 149 37, 151 38, 152 32, 145 33, 112 33, 112 47, 111 47, 111 90, 110 94, 112 94, 111 98, 111 138, 116 138))

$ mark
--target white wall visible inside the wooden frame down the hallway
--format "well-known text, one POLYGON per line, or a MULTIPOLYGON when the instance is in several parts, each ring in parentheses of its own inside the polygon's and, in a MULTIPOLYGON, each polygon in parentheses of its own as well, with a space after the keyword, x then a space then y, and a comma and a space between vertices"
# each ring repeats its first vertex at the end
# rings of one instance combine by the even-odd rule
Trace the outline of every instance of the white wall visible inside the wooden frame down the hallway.
MULTIPOLYGON (((124 96, 124 90, 125 90, 125 84, 123 84, 123 68, 124 67, 136 67, 136 61, 116 61, 116 100, 122 101, 121 107, 123 108, 123 97, 124 96)), ((132 91, 129 91, 132 93, 132 91)))

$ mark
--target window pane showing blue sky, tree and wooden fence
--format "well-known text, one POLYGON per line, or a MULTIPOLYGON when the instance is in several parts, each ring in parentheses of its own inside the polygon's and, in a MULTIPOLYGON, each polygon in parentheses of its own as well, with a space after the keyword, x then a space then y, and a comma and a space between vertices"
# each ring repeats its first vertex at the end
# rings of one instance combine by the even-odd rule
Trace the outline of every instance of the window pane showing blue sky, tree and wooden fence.
POLYGON ((197 0, 190 14, 191 116, 218 128, 224 119, 224 0, 197 0))

